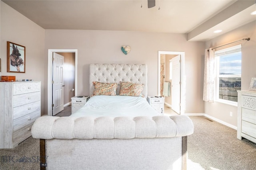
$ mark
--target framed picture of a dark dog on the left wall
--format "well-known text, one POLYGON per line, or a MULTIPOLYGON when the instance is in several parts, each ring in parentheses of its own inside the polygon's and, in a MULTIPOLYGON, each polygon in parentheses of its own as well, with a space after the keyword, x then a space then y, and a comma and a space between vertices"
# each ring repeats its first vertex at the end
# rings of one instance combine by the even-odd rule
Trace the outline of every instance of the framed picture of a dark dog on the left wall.
POLYGON ((7 72, 25 72, 25 47, 7 41, 7 72))

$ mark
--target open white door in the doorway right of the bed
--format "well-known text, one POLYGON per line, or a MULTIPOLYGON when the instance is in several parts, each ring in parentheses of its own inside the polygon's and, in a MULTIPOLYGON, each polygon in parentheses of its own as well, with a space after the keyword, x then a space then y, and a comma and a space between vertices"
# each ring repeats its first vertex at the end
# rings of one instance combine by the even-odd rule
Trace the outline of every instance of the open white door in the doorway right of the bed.
POLYGON ((180 55, 172 61, 172 110, 180 114, 180 55))

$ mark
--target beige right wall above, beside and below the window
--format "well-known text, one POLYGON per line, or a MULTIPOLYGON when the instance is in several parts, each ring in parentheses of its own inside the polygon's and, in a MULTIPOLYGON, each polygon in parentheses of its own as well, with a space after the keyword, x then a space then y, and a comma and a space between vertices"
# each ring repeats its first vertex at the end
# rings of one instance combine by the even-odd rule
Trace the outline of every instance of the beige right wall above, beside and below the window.
MULTIPOLYGON (((206 48, 218 47, 248 37, 250 37, 250 41, 240 41, 232 44, 242 44, 242 90, 248 90, 251 78, 256 77, 256 21, 234 29, 224 35, 220 35, 205 43, 206 48)), ((204 106, 206 114, 237 126, 237 107, 218 102, 204 102, 204 106), (233 112, 232 117, 229 115, 230 111, 233 112)))

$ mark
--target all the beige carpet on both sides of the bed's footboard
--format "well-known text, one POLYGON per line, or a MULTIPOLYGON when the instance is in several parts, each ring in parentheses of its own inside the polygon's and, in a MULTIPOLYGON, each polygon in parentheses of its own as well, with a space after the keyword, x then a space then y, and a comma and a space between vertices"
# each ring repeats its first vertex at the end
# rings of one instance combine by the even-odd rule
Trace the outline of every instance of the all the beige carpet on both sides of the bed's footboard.
MULTIPOLYGON (((194 133, 188 136, 187 170, 256 170, 255 143, 237 139, 236 130, 204 116, 190 118, 194 133)), ((39 170, 39 139, 0 149, 0 169, 39 170)))

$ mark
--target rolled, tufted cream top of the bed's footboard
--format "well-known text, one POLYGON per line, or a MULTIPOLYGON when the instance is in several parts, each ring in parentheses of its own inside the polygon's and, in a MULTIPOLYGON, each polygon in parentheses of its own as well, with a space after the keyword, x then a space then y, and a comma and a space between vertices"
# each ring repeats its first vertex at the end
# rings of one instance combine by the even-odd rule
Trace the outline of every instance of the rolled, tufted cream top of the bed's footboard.
POLYGON ((48 117, 36 119, 37 139, 132 139, 182 137, 194 132, 184 115, 154 117, 48 117))

